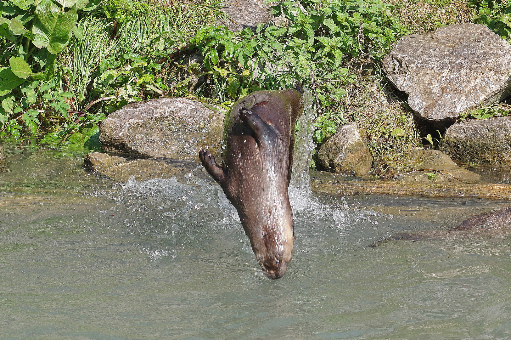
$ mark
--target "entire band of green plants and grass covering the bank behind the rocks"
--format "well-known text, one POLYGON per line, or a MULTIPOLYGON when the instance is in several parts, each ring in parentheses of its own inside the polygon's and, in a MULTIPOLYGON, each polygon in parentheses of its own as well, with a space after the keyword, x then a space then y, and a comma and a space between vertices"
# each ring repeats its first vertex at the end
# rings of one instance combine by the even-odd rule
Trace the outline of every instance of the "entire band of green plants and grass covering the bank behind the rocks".
MULTIPOLYGON (((376 175, 434 144, 421 138, 381 59, 409 33, 474 22, 511 39, 504 0, 344 0, 272 3, 280 25, 231 32, 222 1, 0 2, 0 138, 83 144, 124 105, 187 97, 228 108, 259 89, 297 80, 314 95, 314 140, 356 122, 376 175), (194 59, 196 58, 196 59, 194 59), (196 60, 200 60, 200 63, 196 60)), ((278 23, 277 23, 278 24, 278 23)), ((509 103, 462 119, 507 116, 509 103)))

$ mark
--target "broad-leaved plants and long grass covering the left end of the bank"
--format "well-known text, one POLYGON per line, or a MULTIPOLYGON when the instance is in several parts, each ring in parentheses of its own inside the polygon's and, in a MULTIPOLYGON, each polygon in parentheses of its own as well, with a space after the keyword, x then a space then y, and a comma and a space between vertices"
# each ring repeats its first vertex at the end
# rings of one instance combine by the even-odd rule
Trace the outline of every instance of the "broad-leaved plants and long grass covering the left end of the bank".
POLYGON ((198 27, 213 24, 219 2, 98 5, 99 0, 0 2, 3 135, 54 131, 52 138, 62 142, 128 102, 164 95, 167 73, 158 62, 188 43, 198 27))

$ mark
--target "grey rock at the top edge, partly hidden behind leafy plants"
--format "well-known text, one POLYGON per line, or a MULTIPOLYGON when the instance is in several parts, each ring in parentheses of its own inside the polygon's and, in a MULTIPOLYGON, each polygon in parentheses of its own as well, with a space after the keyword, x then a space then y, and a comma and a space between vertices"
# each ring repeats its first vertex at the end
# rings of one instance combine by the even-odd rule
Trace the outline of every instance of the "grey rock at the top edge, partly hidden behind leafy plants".
POLYGON ((233 32, 246 27, 254 31, 258 24, 266 24, 273 19, 270 5, 265 5, 264 0, 226 0, 222 12, 229 19, 222 19, 221 23, 233 32))

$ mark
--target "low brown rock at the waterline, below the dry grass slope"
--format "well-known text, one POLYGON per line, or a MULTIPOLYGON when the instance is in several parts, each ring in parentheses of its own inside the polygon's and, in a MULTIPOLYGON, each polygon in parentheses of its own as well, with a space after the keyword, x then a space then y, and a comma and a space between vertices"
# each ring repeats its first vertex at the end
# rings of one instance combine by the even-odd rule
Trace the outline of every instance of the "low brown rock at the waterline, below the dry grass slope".
POLYGON ((408 159, 410 171, 405 170, 404 174, 396 176, 397 179, 409 182, 451 180, 463 183, 476 183, 481 180, 479 174, 458 167, 451 157, 438 150, 416 150, 408 154, 408 159))

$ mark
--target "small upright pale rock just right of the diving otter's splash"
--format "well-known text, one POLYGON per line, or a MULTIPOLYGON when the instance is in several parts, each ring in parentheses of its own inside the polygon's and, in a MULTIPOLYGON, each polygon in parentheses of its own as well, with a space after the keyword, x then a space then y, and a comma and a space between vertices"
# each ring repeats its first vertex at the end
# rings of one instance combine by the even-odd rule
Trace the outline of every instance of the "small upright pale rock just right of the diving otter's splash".
POLYGON ((328 171, 353 171, 366 175, 373 165, 362 131, 355 123, 340 126, 318 151, 318 165, 328 171))

